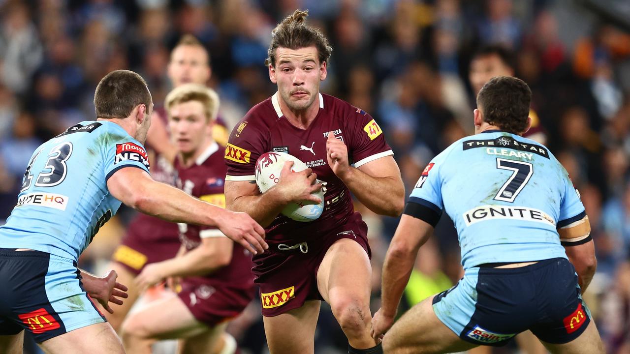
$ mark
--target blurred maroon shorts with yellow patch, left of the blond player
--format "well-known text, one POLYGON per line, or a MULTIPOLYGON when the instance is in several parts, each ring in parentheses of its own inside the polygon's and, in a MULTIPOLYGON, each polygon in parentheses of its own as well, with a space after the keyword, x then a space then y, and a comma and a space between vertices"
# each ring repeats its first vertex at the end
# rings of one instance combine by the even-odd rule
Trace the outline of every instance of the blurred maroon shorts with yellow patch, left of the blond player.
POLYGON ((112 260, 138 275, 149 263, 175 257, 180 246, 177 224, 138 215, 129 225, 112 260))

